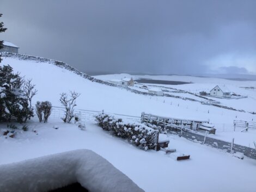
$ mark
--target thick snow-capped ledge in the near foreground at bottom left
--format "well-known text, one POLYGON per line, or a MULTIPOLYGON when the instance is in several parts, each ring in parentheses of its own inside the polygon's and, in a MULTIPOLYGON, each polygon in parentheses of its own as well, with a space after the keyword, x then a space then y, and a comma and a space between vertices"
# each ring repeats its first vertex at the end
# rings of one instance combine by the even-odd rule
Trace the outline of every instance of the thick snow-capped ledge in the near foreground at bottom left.
POLYGON ((80 183, 90 192, 143 190, 106 159, 75 150, 0 166, 0 191, 49 191, 80 183))

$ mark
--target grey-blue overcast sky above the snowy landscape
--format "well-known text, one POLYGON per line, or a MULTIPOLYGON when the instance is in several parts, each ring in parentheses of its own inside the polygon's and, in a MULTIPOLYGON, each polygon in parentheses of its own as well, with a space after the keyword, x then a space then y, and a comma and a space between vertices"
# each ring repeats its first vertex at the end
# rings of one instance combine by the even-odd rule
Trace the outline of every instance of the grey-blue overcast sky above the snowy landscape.
POLYGON ((0 0, 0 39, 85 72, 256 75, 256 1, 0 0))

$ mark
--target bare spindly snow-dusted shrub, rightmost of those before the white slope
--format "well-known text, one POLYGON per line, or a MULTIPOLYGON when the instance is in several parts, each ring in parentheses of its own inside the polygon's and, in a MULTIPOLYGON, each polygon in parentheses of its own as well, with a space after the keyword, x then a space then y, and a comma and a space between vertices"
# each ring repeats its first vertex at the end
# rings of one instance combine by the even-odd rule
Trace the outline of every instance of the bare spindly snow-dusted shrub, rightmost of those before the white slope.
POLYGON ((65 107, 65 115, 61 118, 64 122, 70 122, 71 119, 74 117, 74 107, 76 106, 76 98, 79 96, 80 94, 78 94, 75 91, 70 91, 69 96, 65 92, 60 94, 59 101, 65 107))

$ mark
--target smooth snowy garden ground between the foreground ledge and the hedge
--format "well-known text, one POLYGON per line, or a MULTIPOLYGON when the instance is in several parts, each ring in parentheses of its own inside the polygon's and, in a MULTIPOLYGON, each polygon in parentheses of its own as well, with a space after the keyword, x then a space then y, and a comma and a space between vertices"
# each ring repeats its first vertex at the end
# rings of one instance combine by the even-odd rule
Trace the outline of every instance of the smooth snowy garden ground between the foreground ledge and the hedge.
POLYGON ((255 160, 231 157, 176 135, 169 136, 169 147, 189 153, 190 160, 177 162, 161 151, 139 150, 93 123, 87 123, 86 131, 54 119, 47 124, 28 125, 39 134, 23 132, 15 139, 0 136, 0 164, 88 148, 106 158, 145 191, 256 191, 255 160), (53 125, 59 129, 53 129, 53 125))

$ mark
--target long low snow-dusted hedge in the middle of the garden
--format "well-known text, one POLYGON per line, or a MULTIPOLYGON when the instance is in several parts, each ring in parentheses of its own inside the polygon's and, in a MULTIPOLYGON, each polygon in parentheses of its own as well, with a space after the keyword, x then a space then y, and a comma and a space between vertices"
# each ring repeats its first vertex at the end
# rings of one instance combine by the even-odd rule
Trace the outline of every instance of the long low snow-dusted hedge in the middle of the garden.
POLYGON ((114 116, 104 112, 96 115, 95 119, 102 129, 127 139, 143 150, 154 149, 156 146, 159 131, 145 126, 143 123, 123 122, 121 119, 115 119, 114 116))

